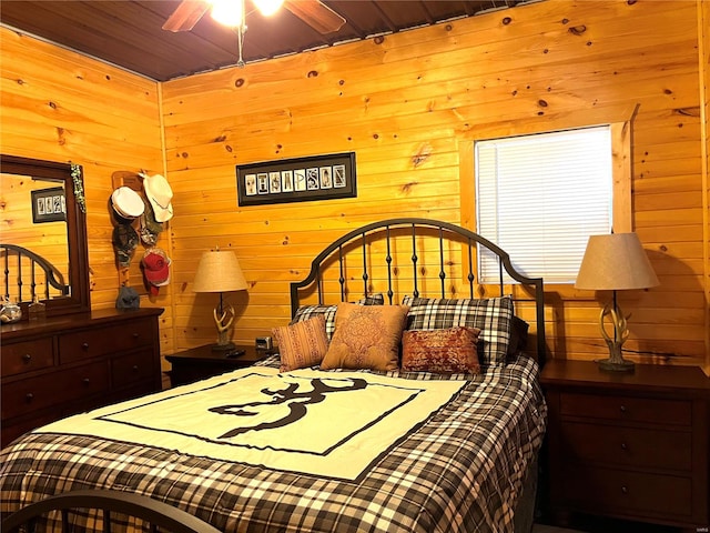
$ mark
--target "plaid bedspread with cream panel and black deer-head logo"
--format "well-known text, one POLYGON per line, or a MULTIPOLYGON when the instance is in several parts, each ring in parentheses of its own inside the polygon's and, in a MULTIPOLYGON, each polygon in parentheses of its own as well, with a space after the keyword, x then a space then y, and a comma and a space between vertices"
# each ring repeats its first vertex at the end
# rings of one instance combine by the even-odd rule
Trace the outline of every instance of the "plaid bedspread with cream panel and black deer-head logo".
POLYGON ((545 433, 535 361, 473 376, 277 369, 271 358, 34 430, 0 454, 0 511, 113 489, 230 533, 513 532, 545 433), (253 440, 244 424, 268 431, 253 440), (219 444, 225 435, 233 445, 219 444))

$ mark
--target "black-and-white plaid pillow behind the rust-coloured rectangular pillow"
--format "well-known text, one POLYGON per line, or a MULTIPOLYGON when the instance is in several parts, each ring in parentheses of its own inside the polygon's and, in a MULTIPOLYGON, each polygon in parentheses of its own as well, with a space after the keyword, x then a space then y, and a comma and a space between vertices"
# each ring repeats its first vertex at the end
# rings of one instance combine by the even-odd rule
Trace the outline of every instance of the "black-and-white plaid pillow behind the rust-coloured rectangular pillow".
POLYGON ((510 340, 513 299, 481 300, 404 296, 409 305, 407 330, 440 330, 456 325, 478 328, 478 360, 485 365, 505 365, 510 340))

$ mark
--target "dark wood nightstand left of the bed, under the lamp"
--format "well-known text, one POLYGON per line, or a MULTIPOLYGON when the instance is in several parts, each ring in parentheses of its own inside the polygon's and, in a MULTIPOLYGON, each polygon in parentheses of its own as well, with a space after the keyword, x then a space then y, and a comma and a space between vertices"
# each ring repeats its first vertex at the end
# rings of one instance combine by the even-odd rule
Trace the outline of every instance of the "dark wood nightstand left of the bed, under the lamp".
POLYGON ((212 378, 235 369, 243 369, 275 353, 273 350, 256 350, 254 345, 245 344, 237 345, 236 350, 244 350, 244 353, 212 351, 212 345, 205 345, 165 355, 165 359, 172 364, 170 372, 172 386, 184 385, 185 383, 212 378))

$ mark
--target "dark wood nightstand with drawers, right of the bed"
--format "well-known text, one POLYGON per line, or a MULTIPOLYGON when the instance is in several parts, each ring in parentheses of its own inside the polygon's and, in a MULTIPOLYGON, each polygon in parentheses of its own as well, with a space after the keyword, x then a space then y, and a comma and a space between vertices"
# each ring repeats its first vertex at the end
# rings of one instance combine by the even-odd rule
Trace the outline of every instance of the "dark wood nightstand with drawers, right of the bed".
POLYGON ((550 510, 707 531, 710 380, 696 366, 548 361, 550 510))

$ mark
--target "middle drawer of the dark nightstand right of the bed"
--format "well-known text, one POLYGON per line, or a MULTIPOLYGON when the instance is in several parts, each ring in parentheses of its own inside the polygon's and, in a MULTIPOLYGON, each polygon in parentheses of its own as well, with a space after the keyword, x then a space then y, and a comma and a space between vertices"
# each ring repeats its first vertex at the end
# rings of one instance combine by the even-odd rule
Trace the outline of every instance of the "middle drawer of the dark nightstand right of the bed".
POLYGON ((692 436, 688 431, 565 421, 560 433, 566 456, 572 461, 680 471, 692 467, 692 436))

